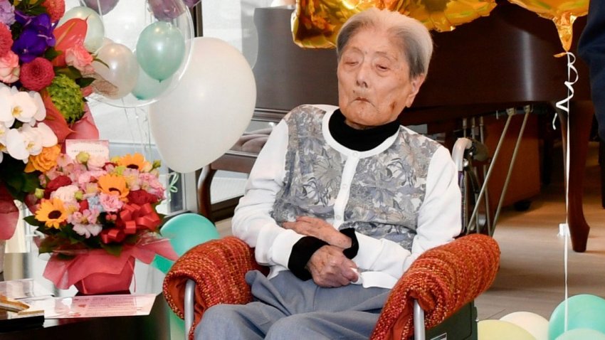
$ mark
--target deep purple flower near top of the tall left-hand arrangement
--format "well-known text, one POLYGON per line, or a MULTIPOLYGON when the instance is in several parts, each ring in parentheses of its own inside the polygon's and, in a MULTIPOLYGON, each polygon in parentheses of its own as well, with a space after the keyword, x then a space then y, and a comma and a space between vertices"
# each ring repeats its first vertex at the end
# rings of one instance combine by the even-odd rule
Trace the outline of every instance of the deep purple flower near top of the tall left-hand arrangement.
POLYGON ((48 46, 55 46, 51 17, 43 13, 27 16, 15 11, 16 22, 21 24, 19 38, 13 43, 13 52, 19 55, 22 63, 29 63, 44 54, 48 46))

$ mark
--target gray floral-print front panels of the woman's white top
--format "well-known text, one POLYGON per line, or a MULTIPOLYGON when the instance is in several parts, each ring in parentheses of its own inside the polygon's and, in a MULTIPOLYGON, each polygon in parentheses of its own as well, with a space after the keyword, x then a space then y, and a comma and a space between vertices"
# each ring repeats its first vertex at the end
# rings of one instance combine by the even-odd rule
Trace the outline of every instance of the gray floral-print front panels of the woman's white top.
MULTIPOLYGON (((322 135, 324 115, 317 107, 302 105, 284 118, 289 136, 285 184, 272 211, 278 224, 297 216, 334 218, 345 159, 322 135)), ((391 147, 359 159, 339 228, 355 228, 358 233, 386 238, 411 250, 428 165, 439 145, 400 127, 391 147)))

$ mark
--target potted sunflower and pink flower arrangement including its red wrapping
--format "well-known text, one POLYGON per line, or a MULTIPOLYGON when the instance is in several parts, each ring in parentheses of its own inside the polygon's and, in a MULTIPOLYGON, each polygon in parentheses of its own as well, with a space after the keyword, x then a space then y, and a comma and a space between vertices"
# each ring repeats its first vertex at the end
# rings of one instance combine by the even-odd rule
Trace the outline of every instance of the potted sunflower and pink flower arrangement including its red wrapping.
POLYGON ((177 260, 169 240, 158 236, 156 208, 164 199, 159 166, 141 154, 59 154, 38 177, 40 201, 25 218, 43 234, 36 239, 39 253, 51 253, 43 276, 83 294, 122 292, 130 287, 135 259, 177 260))

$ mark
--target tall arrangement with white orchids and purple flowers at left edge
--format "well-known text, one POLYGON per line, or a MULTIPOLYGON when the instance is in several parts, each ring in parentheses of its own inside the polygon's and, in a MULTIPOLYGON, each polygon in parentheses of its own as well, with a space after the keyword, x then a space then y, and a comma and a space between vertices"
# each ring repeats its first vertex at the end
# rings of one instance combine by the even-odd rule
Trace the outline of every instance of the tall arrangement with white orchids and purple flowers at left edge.
POLYGON ((0 0, 0 240, 14 233, 14 200, 31 205, 65 139, 99 136, 85 103, 94 80, 87 23, 58 26, 64 13, 64 0, 0 0))

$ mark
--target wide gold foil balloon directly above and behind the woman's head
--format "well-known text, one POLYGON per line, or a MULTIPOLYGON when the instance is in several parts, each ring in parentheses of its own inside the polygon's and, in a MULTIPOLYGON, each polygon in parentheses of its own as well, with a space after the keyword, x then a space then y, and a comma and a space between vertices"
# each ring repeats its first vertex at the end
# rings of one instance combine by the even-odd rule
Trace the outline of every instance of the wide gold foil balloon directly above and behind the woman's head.
POLYGON ((334 48, 344 21, 370 7, 399 11, 441 32, 488 16, 495 0, 298 0, 292 16, 294 42, 303 48, 334 48))

